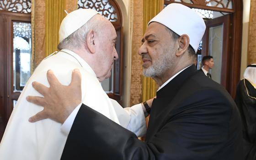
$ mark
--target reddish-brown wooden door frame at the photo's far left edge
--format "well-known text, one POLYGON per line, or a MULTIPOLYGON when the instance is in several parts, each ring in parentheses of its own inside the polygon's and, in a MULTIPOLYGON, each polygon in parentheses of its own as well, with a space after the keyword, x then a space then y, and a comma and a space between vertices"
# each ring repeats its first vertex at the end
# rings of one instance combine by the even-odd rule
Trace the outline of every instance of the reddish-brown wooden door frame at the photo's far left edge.
MULTIPOLYGON (((3 33, 3 45, 2 46, 2 61, 3 61, 3 76, 0 78, 3 80, 4 84, 1 89, 3 89, 3 103, 0 105, 1 110, 3 111, 3 121, 5 126, 11 116, 11 112, 13 108, 12 101, 18 99, 20 93, 12 93, 13 91, 13 63, 9 63, 9 60, 13 59, 13 30, 7 29, 12 28, 12 21, 24 21, 24 22, 31 22, 31 14, 24 14, 24 13, 14 13, 9 11, 0 11, 0 15, 3 16, 4 19, 4 27, 2 30, 3 33), (11 72, 10 72, 11 70, 11 72), (11 80, 9 80, 11 79, 11 80), (11 90, 8 90, 8 86, 11 86, 11 90)), ((1 72, 1 71, 0 71, 1 72)), ((1 86, 1 85, 0 85, 1 86)))

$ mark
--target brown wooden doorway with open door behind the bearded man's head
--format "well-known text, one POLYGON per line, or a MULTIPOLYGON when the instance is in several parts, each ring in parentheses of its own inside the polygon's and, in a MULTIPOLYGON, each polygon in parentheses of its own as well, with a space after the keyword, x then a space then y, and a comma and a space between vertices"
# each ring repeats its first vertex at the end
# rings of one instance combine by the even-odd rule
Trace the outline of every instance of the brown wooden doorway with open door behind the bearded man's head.
POLYGON ((220 64, 216 71, 216 74, 219 74, 216 80, 218 79, 230 95, 235 97, 236 84, 240 80, 242 0, 165 0, 165 5, 171 3, 181 3, 190 8, 222 14, 216 18, 205 18, 207 29, 203 37, 201 52, 202 55, 213 55, 210 41, 214 38, 210 34, 214 29, 223 32, 221 54, 215 55, 219 56, 216 60, 218 59, 220 64))

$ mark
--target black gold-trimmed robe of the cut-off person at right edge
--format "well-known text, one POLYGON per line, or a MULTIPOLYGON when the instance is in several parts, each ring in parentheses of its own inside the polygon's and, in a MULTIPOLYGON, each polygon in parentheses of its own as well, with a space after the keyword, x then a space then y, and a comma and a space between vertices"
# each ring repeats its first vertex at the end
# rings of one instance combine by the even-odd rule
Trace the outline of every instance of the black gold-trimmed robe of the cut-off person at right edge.
POLYGON ((248 80, 238 83, 235 103, 243 123, 245 160, 256 160, 256 89, 248 80))

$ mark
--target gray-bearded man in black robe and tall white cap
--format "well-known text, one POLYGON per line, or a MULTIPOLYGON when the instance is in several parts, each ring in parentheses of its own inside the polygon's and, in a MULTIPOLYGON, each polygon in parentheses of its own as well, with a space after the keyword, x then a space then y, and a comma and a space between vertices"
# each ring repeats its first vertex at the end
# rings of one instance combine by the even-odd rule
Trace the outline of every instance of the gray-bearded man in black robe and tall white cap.
MULTIPOLYGON (((241 160, 241 122, 235 102, 193 65, 204 30, 200 16, 176 3, 149 21, 139 55, 143 74, 153 77, 160 88, 145 142, 82 104, 62 160, 241 160)), ((60 93, 58 89, 64 86, 54 75, 48 80, 53 87, 34 85, 44 98, 28 97, 28 101, 44 106, 31 122, 43 118, 64 122, 62 115, 79 105, 74 101, 80 97, 73 95, 80 92, 80 84, 65 86, 66 92, 60 93)))

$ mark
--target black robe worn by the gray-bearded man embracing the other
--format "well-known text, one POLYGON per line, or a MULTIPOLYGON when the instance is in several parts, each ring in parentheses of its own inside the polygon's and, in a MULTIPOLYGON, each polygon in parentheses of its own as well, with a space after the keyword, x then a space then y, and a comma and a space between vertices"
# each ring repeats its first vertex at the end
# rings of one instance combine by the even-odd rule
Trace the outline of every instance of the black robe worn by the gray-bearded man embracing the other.
POLYGON ((82 105, 62 154, 62 160, 242 158, 241 122, 235 102, 194 65, 157 92, 145 142, 82 105))

